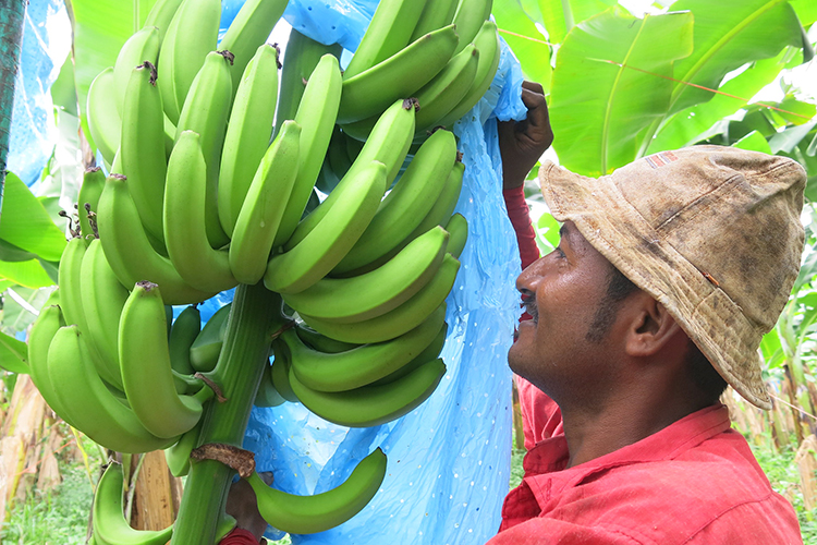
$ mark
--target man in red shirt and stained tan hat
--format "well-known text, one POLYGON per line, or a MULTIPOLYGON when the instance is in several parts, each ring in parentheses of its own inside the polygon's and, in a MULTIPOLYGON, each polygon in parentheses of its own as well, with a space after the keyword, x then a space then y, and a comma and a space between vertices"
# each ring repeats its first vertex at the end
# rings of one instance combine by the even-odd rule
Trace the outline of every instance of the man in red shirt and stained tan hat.
MULTIPOLYGON (((524 259, 516 187, 552 133, 541 88, 523 100, 500 145, 524 259)), ((770 408, 757 348, 800 267, 803 169, 694 146, 598 180, 546 162, 539 180, 564 223, 516 281, 532 448, 489 545, 802 543, 718 399, 729 384, 770 408)))

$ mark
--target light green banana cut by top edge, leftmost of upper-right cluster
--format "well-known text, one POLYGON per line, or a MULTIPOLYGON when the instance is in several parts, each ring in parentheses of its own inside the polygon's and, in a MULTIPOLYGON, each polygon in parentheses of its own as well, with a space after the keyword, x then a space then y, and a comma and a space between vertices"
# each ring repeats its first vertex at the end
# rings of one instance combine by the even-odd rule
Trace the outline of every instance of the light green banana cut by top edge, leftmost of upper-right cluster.
POLYGON ((344 80, 368 70, 408 45, 426 0, 382 0, 349 61, 344 80))

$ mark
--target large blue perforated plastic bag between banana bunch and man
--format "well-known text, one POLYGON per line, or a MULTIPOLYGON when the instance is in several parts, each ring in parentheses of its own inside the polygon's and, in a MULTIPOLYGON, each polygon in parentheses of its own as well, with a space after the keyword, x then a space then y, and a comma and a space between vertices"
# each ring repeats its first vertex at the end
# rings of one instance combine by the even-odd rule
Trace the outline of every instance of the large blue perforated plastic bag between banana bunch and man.
MULTIPOLYGON (((316 5, 291 0, 288 21, 314 39, 344 25, 339 32, 356 36, 355 48, 368 20, 344 17, 351 10, 369 14, 376 2, 316 5)), ((273 472, 273 486, 292 494, 338 486, 378 446, 388 455, 382 487, 361 513, 327 532, 292 536, 294 544, 477 544, 499 528, 511 458, 507 353, 520 315, 521 264, 502 198, 495 119, 524 119, 522 80, 503 43, 490 90, 453 128, 466 166, 456 211, 467 218, 470 238, 448 299, 448 373, 437 391, 406 416, 365 429, 328 423, 298 403, 253 411, 244 447, 256 452, 259 471, 273 472)))

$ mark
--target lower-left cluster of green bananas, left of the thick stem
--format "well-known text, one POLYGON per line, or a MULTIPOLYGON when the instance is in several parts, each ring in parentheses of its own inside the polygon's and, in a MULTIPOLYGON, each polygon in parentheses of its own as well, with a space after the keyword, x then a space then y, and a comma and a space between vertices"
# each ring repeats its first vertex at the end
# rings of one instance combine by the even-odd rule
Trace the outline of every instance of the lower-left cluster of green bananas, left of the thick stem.
MULTIPOLYGON (((59 292, 28 340, 32 378, 42 397, 65 422, 111 450, 146 452, 176 443, 198 423, 214 390, 171 365, 158 287, 139 282, 129 292, 99 239, 87 246, 72 239, 59 274, 59 292)), ((174 337, 174 344, 195 338, 174 337)))

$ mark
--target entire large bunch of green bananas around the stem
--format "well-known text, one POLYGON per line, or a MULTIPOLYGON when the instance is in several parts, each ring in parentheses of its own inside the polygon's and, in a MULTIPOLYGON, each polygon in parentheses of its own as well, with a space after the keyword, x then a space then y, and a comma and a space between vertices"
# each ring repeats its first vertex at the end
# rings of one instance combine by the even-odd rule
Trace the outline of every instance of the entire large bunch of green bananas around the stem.
MULTIPOLYGON (((491 1, 382 0, 344 73, 337 47, 293 31, 279 99, 265 40, 285 4, 248 0, 216 50, 219 0, 159 0, 96 77, 86 113, 111 174, 86 172, 59 292, 29 337, 32 377, 61 417, 112 450, 168 449, 174 474, 230 373, 217 366, 229 307, 199 331, 195 304, 239 283, 263 281, 297 314, 272 342, 258 404, 300 400, 371 426, 417 407, 446 372, 444 300, 467 222, 452 216, 455 137, 432 129, 490 85, 491 1)), ((378 489, 378 452, 328 496, 251 484, 270 522, 321 531, 378 489)), ((123 530, 117 479, 109 468, 99 485, 97 542, 164 543, 123 530)))

